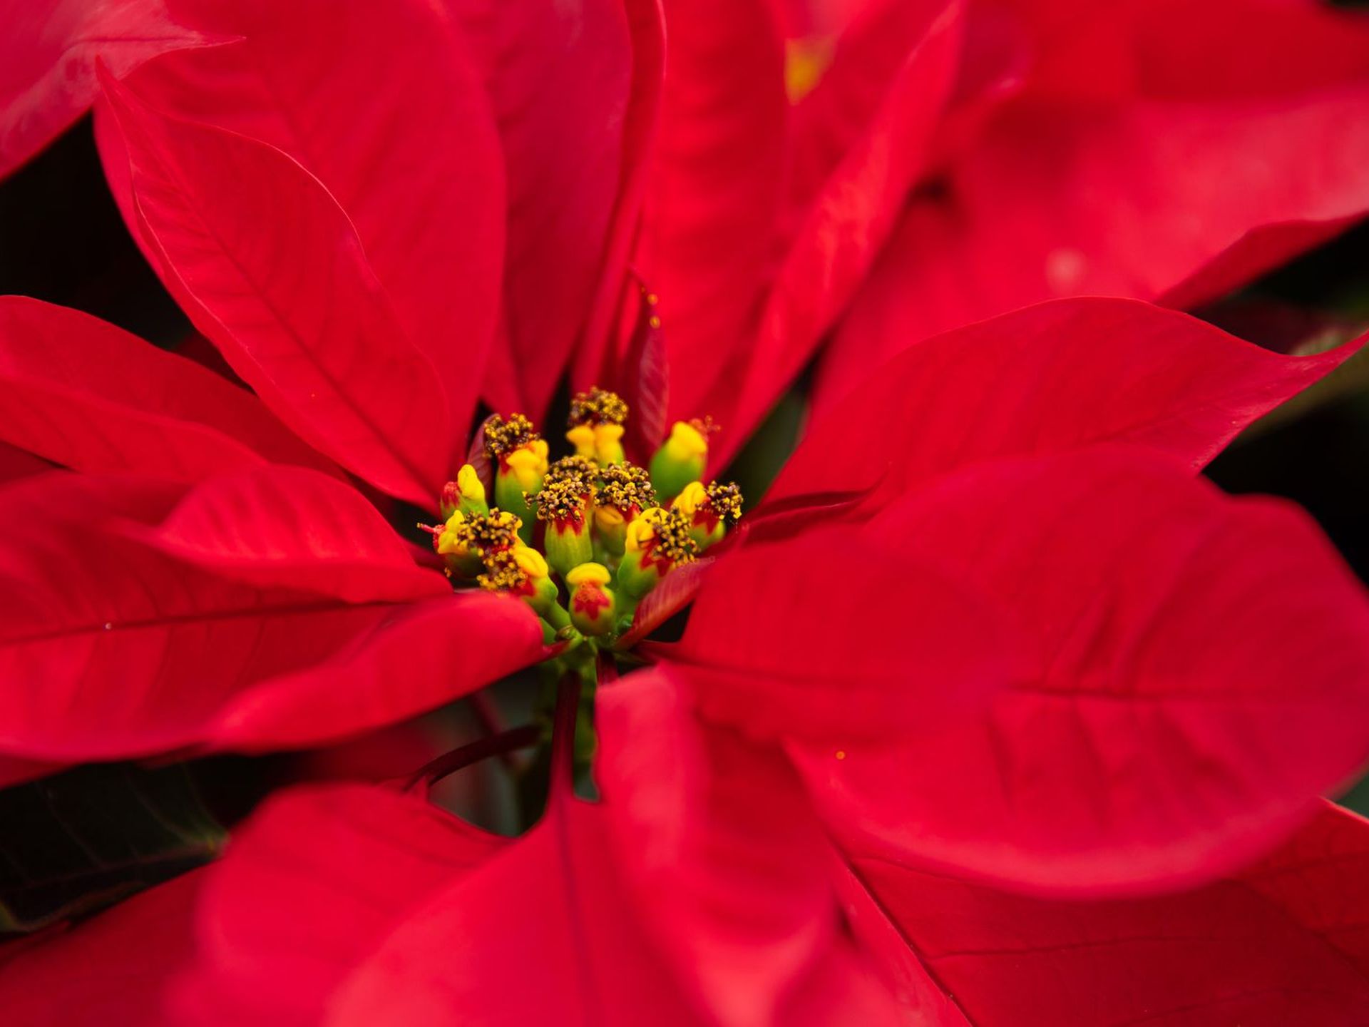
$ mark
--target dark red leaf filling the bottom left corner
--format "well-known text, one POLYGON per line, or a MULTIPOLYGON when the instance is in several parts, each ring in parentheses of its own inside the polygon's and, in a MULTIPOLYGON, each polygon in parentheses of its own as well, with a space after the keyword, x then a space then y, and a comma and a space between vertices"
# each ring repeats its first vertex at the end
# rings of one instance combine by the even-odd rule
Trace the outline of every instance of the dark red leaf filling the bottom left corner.
POLYGON ((0 948, 7 1027, 162 1027, 186 961, 205 870, 141 891, 68 931, 0 948))

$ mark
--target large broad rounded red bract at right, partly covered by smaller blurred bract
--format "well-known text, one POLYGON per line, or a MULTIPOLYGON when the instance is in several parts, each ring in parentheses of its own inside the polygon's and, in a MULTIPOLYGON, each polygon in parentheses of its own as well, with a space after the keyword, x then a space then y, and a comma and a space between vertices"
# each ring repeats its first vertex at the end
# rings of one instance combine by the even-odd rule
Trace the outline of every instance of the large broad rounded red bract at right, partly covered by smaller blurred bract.
POLYGON ((853 852, 1043 893, 1175 887, 1259 854, 1369 759, 1364 589, 1280 501, 1101 449, 982 464, 865 530, 954 561, 1035 657, 932 738, 804 753, 853 852))

